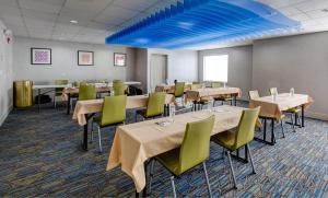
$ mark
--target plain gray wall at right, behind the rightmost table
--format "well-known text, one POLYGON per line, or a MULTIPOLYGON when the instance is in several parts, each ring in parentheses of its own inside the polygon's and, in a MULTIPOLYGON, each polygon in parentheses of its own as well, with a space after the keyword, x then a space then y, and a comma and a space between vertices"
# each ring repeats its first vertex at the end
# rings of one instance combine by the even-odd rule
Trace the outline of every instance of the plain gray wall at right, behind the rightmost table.
POLYGON ((307 93, 312 117, 328 119, 328 32, 257 40, 253 49, 253 89, 307 93))

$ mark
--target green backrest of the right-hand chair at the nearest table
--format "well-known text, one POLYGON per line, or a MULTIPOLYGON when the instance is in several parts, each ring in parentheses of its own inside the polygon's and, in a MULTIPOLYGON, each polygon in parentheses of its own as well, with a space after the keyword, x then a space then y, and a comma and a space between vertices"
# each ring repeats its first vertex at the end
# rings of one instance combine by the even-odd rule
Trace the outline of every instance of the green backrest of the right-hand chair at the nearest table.
POLYGON ((258 119, 259 110, 260 106, 243 110, 233 149, 238 149, 254 139, 254 129, 258 119))

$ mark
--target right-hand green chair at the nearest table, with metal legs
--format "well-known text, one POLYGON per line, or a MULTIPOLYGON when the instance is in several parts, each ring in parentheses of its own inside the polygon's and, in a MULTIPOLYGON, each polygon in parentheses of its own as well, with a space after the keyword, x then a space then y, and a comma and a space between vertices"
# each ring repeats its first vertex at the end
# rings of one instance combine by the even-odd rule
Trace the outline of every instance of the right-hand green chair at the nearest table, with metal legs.
POLYGON ((237 188, 237 184, 236 184, 235 173, 234 173, 234 168, 233 168, 232 161, 231 161, 232 152, 238 150, 242 147, 245 147, 249 154, 253 173, 254 174, 256 173, 248 143, 254 139, 254 130, 255 130, 255 125, 256 125, 256 121, 257 121, 257 118, 259 115, 259 110, 260 110, 260 107, 243 110, 242 118, 239 120, 237 130, 235 132, 234 131, 224 131, 224 132, 214 135, 211 138, 211 140, 213 142, 223 147, 224 150, 227 150, 226 154, 227 154, 227 159, 229 159, 229 163, 230 163, 231 173, 233 176, 234 188, 237 188))

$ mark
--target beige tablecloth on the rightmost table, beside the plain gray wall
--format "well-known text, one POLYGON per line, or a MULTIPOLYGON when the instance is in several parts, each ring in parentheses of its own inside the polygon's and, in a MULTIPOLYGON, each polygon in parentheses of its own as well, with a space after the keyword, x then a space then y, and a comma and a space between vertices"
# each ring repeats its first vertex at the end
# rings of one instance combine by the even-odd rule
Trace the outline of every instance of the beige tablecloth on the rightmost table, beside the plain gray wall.
POLYGON ((260 106, 260 116, 280 119, 283 110, 301 105, 307 107, 312 103, 313 100, 305 94, 294 94, 291 96, 290 93, 281 93, 277 95, 276 101, 273 101, 271 95, 251 100, 249 107, 254 108, 260 106))

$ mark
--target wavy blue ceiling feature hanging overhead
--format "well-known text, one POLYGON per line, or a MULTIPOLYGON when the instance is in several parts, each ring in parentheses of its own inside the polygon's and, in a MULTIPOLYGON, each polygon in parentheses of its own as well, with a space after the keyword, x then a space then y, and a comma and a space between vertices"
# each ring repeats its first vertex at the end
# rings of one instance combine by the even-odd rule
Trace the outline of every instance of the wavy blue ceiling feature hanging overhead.
POLYGON ((108 36, 106 44, 176 49, 298 27, 298 22, 254 0, 185 0, 108 36))

